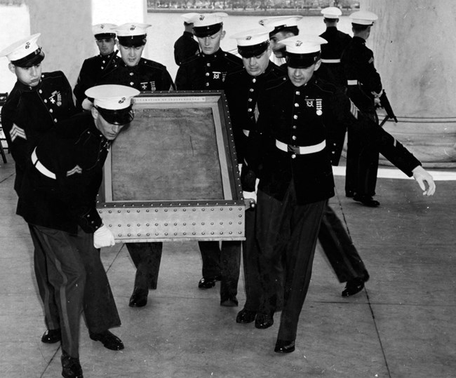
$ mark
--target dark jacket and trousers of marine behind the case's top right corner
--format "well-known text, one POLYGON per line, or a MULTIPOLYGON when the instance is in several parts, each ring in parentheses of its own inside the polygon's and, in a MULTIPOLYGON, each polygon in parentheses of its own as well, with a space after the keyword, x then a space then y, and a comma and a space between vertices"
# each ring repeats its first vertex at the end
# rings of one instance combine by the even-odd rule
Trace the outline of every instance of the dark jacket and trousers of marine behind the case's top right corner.
MULTIPOLYGON (((224 88, 227 74, 241 67, 241 58, 225 53, 221 48, 210 55, 199 53, 183 62, 177 70, 176 88, 177 90, 221 90, 224 88)), ((221 302, 234 298, 239 280, 241 243, 223 241, 222 250, 220 250, 217 241, 199 241, 199 249, 203 259, 203 280, 210 282, 222 278, 221 302)))

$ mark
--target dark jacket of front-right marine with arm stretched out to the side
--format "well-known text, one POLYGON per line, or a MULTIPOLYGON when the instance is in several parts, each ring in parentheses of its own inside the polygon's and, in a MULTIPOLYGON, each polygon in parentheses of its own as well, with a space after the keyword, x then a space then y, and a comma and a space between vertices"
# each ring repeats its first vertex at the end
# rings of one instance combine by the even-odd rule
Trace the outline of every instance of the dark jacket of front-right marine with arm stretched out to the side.
POLYGON ((260 94, 258 107, 262 134, 253 135, 254 150, 262 161, 259 189, 279 201, 290 182, 295 185, 298 204, 330 198, 334 196, 334 180, 328 146, 313 154, 295 154, 277 148, 276 140, 313 146, 347 127, 356 128, 406 175, 411 176, 413 168, 420 165, 401 143, 359 112, 340 88, 316 76, 300 88, 280 80, 260 94))

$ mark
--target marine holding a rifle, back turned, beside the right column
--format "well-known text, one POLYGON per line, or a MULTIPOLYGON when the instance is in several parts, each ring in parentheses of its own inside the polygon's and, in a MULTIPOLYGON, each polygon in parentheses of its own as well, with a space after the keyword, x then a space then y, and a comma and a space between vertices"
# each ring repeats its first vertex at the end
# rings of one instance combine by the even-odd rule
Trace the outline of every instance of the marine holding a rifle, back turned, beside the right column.
MULTIPOLYGON (((382 94, 382 81, 375 69, 373 52, 366 47, 370 27, 377 20, 377 15, 359 11, 349 17, 354 36, 341 58, 347 79, 347 95, 358 109, 378 123, 375 99, 382 94)), ((380 205, 380 202, 373 199, 378 158, 377 149, 363 142, 358 133, 348 131, 345 194, 370 207, 380 205)))

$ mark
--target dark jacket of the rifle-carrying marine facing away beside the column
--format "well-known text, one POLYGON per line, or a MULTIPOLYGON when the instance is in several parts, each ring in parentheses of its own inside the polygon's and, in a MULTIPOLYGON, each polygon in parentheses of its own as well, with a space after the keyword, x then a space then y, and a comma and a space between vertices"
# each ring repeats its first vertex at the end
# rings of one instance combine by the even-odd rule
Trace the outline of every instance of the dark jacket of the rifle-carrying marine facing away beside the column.
POLYGON ((366 47, 366 41, 354 36, 345 48, 341 58, 347 81, 356 81, 348 85, 347 95, 358 109, 375 112, 374 96, 371 92, 382 91, 382 81, 374 66, 374 54, 366 47))

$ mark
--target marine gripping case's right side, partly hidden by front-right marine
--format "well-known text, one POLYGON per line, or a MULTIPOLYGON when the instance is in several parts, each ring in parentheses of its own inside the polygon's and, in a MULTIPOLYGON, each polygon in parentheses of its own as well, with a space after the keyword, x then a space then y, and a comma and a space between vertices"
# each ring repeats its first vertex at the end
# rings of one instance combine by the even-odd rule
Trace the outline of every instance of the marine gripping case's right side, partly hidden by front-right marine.
MULTIPOLYGON (((255 130, 258 118, 257 98, 267 86, 268 81, 286 79, 286 70, 275 65, 269 56, 269 32, 271 28, 252 29, 234 34, 238 52, 243 60, 243 68, 227 75, 224 90, 227 95, 229 114, 232 119, 236 155, 241 165, 241 182, 243 196, 246 198, 246 241, 242 244, 244 282, 246 288, 246 303, 236 316, 237 323, 251 323, 261 328, 261 315, 257 312, 261 304, 260 273, 258 271, 258 250, 255 240, 254 207, 250 207, 250 198, 255 201, 255 173, 249 170, 244 156, 249 154, 250 131, 255 130)), ((273 272, 276 274, 278 290, 283 291, 281 283, 281 266, 273 272)))

